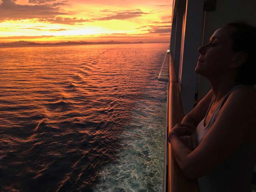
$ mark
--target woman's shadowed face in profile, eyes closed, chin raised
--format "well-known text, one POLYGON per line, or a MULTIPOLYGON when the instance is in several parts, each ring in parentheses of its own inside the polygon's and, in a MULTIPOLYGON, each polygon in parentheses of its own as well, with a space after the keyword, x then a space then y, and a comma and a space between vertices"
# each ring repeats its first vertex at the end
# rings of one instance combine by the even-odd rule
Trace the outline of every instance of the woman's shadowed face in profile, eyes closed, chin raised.
POLYGON ((235 29, 222 27, 217 29, 210 38, 210 42, 200 48, 195 72, 206 78, 218 77, 231 71, 230 64, 234 59, 232 39, 230 34, 235 29))

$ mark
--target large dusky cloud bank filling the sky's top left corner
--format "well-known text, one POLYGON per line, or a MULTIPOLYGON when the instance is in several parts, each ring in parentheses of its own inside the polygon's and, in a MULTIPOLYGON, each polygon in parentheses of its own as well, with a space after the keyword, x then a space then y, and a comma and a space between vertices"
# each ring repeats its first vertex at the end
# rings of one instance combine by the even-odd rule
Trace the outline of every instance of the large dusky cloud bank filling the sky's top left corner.
POLYGON ((68 13, 50 5, 20 5, 16 4, 15 0, 2 0, 2 4, 0 4, 0 22, 4 20, 54 18, 57 15, 68 15, 68 13))

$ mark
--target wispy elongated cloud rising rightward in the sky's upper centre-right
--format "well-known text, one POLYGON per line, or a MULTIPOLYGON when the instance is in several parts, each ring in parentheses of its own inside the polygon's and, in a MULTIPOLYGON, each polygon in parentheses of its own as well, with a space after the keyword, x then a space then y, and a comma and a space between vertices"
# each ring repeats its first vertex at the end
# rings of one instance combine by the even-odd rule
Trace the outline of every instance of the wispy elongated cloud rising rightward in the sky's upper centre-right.
MULTIPOLYGON (((111 11, 106 11, 105 10, 105 12, 111 12, 111 11)), ((96 21, 105 21, 105 20, 113 20, 113 19, 125 20, 125 19, 140 17, 140 16, 145 15, 145 14, 150 14, 150 13, 143 12, 140 9, 126 10, 126 11, 113 12, 113 13, 114 13, 114 15, 109 15, 109 16, 102 17, 102 18, 96 18, 96 19, 93 19, 93 20, 96 20, 96 21)))

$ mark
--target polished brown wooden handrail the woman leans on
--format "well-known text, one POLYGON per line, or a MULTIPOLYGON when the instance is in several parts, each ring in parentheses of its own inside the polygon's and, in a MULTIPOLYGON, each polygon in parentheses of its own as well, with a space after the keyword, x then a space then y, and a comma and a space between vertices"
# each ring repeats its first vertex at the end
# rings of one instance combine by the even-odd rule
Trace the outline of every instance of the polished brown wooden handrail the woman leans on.
MULTIPOLYGON (((170 54, 169 60, 169 83, 168 83, 168 105, 167 105, 167 131, 166 140, 168 133, 175 124, 180 123, 184 117, 182 108, 182 102, 180 99, 180 89, 175 74, 174 63, 172 54, 170 54)), ((167 182, 165 191, 168 192, 199 192, 198 180, 190 180, 185 177, 184 173, 178 166, 174 156, 172 155, 172 148, 169 142, 167 142, 167 182)))

